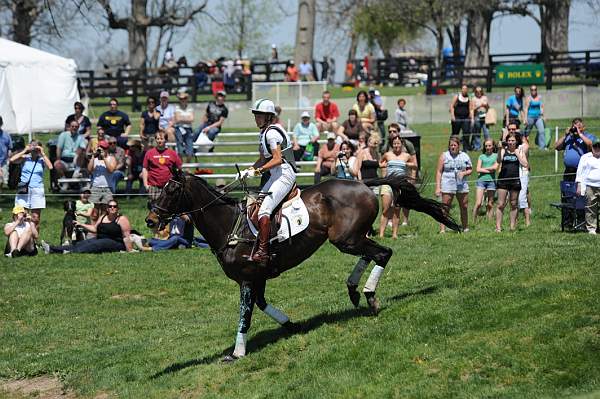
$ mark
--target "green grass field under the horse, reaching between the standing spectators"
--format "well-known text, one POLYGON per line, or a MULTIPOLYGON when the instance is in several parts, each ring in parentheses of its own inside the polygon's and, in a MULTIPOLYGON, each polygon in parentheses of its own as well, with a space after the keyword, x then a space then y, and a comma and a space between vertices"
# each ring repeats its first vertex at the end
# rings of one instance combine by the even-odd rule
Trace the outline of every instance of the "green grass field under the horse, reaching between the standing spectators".
MULTIPOLYGON (((430 182, 448 129, 415 126, 430 182)), ((0 381, 56 376, 85 398, 600 397, 599 241, 560 232, 553 152, 530 162, 532 226, 498 234, 481 220, 439 235, 411 213, 398 240, 380 240, 394 256, 377 317, 364 298, 359 309, 348 300, 355 258, 326 244, 267 286, 303 332, 256 310, 249 354, 231 365, 219 359, 232 350, 239 293, 208 250, 3 258, 0 381)), ((53 243, 62 200, 42 215, 53 243)), ((144 201, 122 207, 148 233, 144 201)))

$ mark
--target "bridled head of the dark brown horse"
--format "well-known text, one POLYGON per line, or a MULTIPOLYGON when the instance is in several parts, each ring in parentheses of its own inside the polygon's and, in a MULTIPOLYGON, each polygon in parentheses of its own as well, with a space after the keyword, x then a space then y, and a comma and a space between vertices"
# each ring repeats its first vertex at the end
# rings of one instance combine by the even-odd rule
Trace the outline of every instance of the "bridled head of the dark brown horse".
POLYGON ((173 217, 182 212, 181 205, 185 187, 185 174, 177 169, 171 169, 172 177, 163 187, 160 196, 148 202, 146 225, 161 230, 173 217))

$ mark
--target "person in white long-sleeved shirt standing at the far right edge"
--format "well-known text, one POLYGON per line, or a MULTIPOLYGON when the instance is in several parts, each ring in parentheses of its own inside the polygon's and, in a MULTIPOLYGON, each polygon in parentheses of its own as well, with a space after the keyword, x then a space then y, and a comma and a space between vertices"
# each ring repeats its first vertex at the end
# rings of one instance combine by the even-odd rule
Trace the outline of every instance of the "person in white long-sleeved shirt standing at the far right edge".
POLYGON ((590 234, 598 232, 600 209, 600 139, 592 141, 592 152, 581 157, 577 167, 577 194, 585 195, 585 224, 590 234))

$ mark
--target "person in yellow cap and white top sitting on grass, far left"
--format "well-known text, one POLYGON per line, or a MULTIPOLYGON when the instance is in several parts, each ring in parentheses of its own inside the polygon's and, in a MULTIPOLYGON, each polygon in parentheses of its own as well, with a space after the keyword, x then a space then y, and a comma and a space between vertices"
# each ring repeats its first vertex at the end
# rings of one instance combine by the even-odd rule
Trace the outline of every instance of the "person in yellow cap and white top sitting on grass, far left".
POLYGON ((12 222, 4 225, 4 235, 8 237, 5 256, 17 258, 37 255, 35 240, 38 238, 38 232, 22 206, 16 205, 13 208, 12 222))

